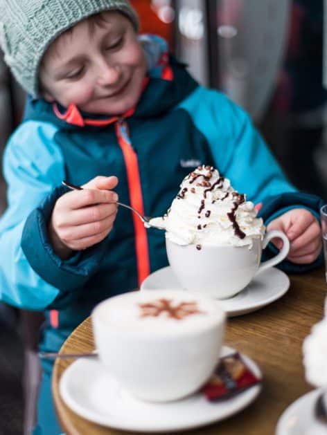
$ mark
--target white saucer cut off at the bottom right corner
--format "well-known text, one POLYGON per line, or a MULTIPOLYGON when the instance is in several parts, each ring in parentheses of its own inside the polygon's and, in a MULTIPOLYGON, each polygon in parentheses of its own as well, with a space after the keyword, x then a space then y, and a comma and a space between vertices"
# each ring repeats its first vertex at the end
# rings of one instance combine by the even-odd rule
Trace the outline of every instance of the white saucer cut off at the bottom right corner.
POLYGON ((323 435, 327 429, 315 418, 320 389, 301 396, 285 409, 276 427, 276 435, 323 435))

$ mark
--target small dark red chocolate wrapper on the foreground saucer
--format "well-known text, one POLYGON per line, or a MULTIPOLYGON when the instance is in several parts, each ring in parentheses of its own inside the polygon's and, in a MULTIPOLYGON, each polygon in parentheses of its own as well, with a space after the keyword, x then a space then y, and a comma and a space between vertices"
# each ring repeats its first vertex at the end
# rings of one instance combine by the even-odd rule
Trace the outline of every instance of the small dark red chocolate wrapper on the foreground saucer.
POLYGON ((202 392, 208 400, 225 400, 260 382, 238 352, 220 358, 220 362, 204 385, 202 392))

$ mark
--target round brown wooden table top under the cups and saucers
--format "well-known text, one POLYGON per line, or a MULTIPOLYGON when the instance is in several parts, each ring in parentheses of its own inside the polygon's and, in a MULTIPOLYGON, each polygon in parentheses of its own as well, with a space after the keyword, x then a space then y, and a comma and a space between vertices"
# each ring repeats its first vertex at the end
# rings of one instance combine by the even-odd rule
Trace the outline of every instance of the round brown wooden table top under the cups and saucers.
MULTIPOLYGON (((254 403, 214 425, 188 432, 193 435, 273 435, 283 410, 311 387, 304 379, 301 346, 312 324, 321 319, 326 297, 324 270, 292 275, 288 293, 254 313, 229 319, 225 344, 254 359, 263 371, 263 389, 254 403)), ((90 352, 94 341, 89 319, 70 335, 61 353, 90 352)), ((132 434, 80 418, 62 402, 58 384, 71 360, 57 360, 53 397, 62 429, 67 435, 132 434)))

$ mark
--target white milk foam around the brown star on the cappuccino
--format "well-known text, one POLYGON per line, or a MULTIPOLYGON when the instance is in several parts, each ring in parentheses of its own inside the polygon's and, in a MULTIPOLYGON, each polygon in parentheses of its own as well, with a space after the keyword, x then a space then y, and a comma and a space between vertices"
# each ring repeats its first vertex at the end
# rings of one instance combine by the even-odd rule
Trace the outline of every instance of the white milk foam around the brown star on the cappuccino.
POLYGON ((161 336, 194 333, 224 320, 224 312, 218 302, 182 290, 142 290, 126 293, 101 302, 94 312, 98 320, 111 330, 161 336), (146 310, 142 308, 143 304, 160 306, 160 299, 169 301, 173 309, 178 308, 179 304, 188 303, 191 311, 196 308, 195 311, 199 312, 182 315, 180 319, 170 317, 167 311, 161 311, 157 316, 144 316, 146 310), (189 305, 191 302, 196 304, 189 305))

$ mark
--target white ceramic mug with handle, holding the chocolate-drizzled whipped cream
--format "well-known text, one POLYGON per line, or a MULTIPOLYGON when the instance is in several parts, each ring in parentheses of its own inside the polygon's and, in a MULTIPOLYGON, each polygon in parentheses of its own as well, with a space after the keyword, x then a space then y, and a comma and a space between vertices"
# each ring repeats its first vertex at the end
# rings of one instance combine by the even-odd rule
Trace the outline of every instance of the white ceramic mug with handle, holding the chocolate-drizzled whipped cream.
POLYGON ((168 261, 179 283, 193 293, 225 299, 236 295, 251 279, 267 268, 280 263, 290 250, 290 241, 279 230, 272 230, 252 246, 177 245, 166 237, 168 261), (283 248, 275 257, 260 264, 262 250, 271 239, 283 240, 283 248))

